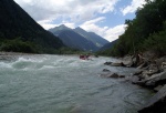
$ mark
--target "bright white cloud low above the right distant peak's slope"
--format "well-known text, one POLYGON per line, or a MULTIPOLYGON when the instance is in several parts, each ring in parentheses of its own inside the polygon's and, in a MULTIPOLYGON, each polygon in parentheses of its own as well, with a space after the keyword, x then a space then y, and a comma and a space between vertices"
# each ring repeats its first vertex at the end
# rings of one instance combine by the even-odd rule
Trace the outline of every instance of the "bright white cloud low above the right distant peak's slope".
POLYGON ((124 33, 126 25, 120 24, 114 28, 96 25, 97 22, 101 22, 104 19, 105 19, 104 17, 101 17, 101 18, 96 18, 94 20, 86 21, 83 24, 81 24, 81 28, 86 31, 95 32, 96 34, 103 37, 104 39, 108 40, 110 42, 118 39, 118 37, 124 33))

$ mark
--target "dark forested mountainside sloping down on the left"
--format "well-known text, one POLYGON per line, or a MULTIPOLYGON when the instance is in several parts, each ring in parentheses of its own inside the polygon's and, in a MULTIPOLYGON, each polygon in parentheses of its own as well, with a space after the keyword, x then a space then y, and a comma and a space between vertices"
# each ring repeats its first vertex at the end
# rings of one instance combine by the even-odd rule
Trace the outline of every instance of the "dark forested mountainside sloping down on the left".
POLYGON ((0 0, 0 23, 1 51, 52 52, 64 47, 13 0, 0 0))

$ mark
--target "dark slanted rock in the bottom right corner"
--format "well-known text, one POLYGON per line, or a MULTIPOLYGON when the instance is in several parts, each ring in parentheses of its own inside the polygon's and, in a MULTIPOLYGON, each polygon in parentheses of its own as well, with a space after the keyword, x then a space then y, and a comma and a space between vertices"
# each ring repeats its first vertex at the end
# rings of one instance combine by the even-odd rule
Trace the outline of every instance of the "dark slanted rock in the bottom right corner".
POLYGON ((145 103, 138 113, 166 113, 166 85, 145 103))

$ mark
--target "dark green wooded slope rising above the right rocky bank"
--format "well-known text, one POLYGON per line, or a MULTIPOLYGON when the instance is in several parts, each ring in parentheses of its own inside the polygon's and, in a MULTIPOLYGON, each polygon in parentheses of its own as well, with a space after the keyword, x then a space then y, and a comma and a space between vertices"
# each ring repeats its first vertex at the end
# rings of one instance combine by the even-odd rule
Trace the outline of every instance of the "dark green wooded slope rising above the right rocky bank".
POLYGON ((127 24, 116 44, 103 52, 105 55, 123 56, 136 52, 154 51, 166 54, 166 0, 146 0, 144 8, 136 11, 136 18, 127 24))

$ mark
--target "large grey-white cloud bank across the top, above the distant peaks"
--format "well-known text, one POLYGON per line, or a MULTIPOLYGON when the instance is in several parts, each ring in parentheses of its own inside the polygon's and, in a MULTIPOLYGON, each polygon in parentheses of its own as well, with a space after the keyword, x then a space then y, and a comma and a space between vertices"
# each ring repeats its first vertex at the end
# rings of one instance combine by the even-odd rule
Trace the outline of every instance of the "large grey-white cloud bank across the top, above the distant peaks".
POLYGON ((75 20, 89 20, 95 13, 106 13, 114 10, 118 0, 14 0, 34 20, 48 20, 71 18, 75 20))

